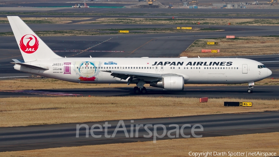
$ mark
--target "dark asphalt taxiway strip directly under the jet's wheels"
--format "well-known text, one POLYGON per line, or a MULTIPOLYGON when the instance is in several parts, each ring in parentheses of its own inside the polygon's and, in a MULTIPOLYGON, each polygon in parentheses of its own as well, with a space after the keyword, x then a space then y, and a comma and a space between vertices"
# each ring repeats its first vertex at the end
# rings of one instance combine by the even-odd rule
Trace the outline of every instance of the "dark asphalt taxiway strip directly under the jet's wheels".
MULTIPOLYGON (((86 89, 52 89, 52 90, 0 90, 0 98, 4 97, 47 97, 47 96, 141 96, 133 91, 133 85, 118 88, 86 88, 86 89)), ((184 91, 166 91, 162 88, 146 87, 148 93, 143 96, 168 97, 209 97, 209 98, 245 98, 245 99, 279 99, 278 85, 255 85, 253 93, 247 93, 246 86, 197 86, 187 85, 184 91)))

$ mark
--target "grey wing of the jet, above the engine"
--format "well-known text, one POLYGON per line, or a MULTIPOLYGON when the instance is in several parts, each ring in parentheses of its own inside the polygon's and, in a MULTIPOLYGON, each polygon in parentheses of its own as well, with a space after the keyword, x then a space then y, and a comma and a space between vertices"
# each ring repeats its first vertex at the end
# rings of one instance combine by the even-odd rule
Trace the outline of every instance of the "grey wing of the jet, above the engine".
POLYGON ((117 70, 104 70, 104 72, 112 73, 113 77, 126 80, 128 77, 152 77, 152 78, 164 78, 170 76, 179 76, 178 74, 153 74, 153 73, 141 73, 130 71, 117 71, 117 70))

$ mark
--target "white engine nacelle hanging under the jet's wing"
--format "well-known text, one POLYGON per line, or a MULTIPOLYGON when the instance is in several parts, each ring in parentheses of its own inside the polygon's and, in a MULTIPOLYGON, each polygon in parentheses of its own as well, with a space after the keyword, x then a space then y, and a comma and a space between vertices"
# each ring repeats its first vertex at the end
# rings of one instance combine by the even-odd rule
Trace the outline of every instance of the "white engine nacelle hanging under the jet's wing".
POLYGON ((184 89, 184 78, 181 76, 164 77, 158 82, 151 82, 150 86, 179 91, 184 89))

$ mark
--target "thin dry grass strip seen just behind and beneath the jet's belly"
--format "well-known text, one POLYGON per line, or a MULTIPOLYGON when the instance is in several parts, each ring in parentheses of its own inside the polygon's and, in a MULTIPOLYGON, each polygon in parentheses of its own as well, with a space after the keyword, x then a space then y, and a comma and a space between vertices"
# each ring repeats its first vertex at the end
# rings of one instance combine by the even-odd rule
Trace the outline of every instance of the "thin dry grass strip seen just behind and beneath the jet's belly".
MULTIPOLYGON (((187 86, 233 86, 247 84, 185 84, 187 86)), ((255 85, 279 85, 279 78, 265 78, 255 85)), ((134 87, 135 84, 130 84, 128 87, 134 87)), ((149 87, 149 84, 145 84, 149 87)), ((77 89, 77 88, 115 88, 127 87, 127 84, 86 84, 86 83, 72 83, 61 81, 54 78, 37 78, 37 79, 10 79, 0 80, 0 90, 39 90, 39 89, 77 89)))

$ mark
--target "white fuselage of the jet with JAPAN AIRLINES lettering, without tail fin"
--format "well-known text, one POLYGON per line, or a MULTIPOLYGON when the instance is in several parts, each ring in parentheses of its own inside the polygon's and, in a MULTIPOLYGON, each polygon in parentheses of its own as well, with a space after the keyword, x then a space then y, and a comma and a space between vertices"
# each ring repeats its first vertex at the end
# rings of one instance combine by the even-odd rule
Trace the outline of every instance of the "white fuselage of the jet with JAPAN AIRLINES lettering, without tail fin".
POLYGON ((45 67, 34 70, 15 65, 16 70, 76 83, 127 83, 113 78, 109 70, 150 74, 177 74, 184 83, 236 84, 256 82, 271 75, 262 63, 243 58, 57 58, 25 64, 45 67))

